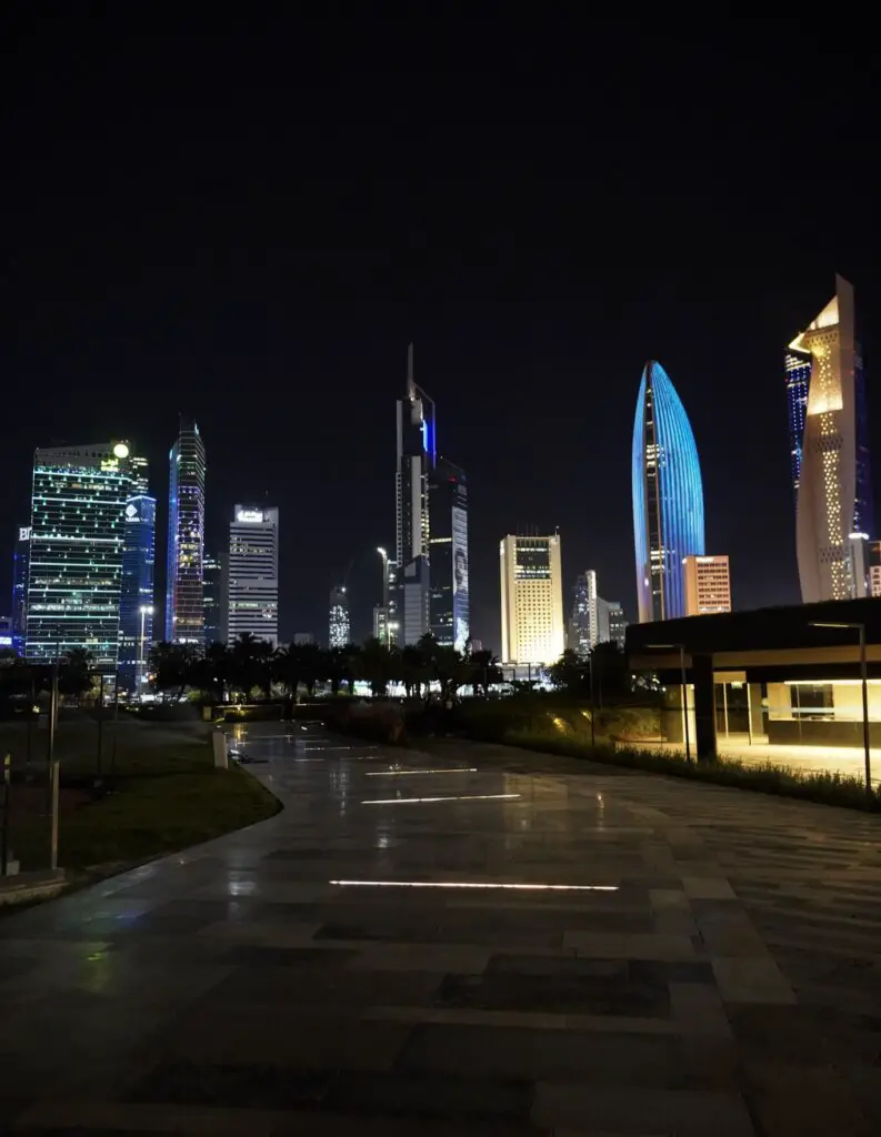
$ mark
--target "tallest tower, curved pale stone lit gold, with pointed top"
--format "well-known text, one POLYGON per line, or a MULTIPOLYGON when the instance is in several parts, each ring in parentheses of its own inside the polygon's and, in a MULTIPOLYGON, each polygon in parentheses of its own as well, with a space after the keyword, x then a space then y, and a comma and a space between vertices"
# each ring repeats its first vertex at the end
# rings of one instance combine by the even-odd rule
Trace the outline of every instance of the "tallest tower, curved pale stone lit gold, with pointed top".
POLYGON ((810 604, 865 596, 865 545, 874 525, 865 380, 854 289, 841 276, 835 276, 834 297, 792 340, 785 358, 787 374, 800 376, 798 399, 804 402, 807 396, 800 417, 792 413, 797 396, 790 399, 791 447, 799 457, 801 599, 810 604))

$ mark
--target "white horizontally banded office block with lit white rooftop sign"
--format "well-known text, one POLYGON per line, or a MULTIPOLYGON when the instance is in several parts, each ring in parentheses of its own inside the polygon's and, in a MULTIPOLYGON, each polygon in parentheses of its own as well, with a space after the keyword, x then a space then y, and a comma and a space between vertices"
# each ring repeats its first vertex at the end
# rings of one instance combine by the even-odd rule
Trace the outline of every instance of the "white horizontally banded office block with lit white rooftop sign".
POLYGON ((227 561, 227 636, 279 641, 279 511, 237 505, 227 561))

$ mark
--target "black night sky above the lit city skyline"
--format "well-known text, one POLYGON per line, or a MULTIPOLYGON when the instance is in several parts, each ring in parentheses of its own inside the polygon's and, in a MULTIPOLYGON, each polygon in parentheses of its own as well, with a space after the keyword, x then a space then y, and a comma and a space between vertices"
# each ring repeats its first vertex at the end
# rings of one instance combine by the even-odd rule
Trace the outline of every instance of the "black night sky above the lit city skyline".
POLYGON ((654 38, 541 9, 519 26, 108 7, 19 6, 0 27, 0 597, 33 448, 118 437, 151 463, 162 595, 184 412, 207 447, 207 547, 236 501, 269 495, 282 638, 324 639, 352 562, 363 638, 412 340, 438 449, 468 475, 487 646, 507 532, 559 526, 567 606, 593 567, 635 615, 649 357, 691 418, 735 607, 798 599, 782 351, 835 271, 856 288, 881 472, 879 60, 853 26, 654 38))

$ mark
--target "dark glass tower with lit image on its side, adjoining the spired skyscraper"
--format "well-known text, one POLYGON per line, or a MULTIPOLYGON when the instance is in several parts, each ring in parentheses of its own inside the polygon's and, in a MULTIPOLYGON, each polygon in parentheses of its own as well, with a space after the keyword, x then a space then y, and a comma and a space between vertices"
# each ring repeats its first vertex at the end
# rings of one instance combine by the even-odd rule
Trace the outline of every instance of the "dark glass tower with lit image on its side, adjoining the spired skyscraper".
POLYGON ((464 652, 469 638, 468 488, 464 472, 438 458, 428 484, 431 634, 464 652))

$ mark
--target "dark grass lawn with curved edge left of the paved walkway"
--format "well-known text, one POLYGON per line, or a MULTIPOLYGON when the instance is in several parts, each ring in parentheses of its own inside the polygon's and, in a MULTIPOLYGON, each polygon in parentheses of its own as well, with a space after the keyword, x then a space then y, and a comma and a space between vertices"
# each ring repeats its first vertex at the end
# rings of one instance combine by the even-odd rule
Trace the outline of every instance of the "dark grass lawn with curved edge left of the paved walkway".
MULTIPOLYGON (((59 731, 60 733, 60 731, 59 731)), ((110 766, 109 792, 96 794, 93 731, 61 757, 58 863, 90 869, 137 862, 209 840, 272 816, 279 802, 255 778, 231 766, 215 770, 204 733, 125 724, 110 766)), ((22 869, 48 863, 49 821, 44 770, 31 785, 13 787, 10 845, 22 869)))

